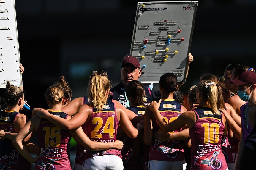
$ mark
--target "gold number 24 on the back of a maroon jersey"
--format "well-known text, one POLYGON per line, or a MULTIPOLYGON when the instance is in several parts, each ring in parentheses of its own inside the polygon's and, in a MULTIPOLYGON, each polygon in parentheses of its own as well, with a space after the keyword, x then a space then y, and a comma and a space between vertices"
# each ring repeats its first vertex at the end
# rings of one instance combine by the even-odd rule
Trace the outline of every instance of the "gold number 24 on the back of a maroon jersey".
POLYGON ((97 124, 97 126, 93 129, 91 132, 91 138, 102 138, 102 133, 108 133, 109 138, 114 137, 115 129, 114 129, 114 117, 108 117, 104 127, 103 131, 100 134, 97 134, 102 128, 103 120, 101 117, 94 117, 91 121, 91 124, 97 124))

